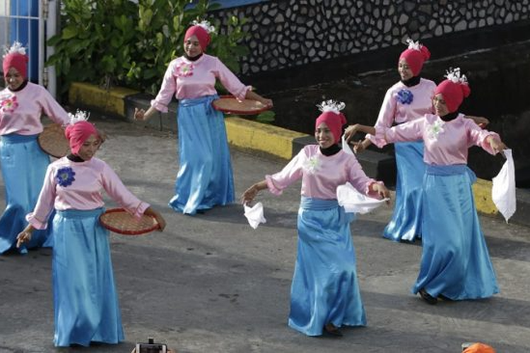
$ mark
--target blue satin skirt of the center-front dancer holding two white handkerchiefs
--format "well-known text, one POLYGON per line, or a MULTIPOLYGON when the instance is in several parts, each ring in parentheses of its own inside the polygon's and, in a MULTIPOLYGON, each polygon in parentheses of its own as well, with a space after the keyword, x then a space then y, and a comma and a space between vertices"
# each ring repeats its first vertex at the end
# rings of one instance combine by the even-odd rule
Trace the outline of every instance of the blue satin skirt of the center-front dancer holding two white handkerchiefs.
POLYGON ((353 217, 336 200, 302 197, 288 325, 305 335, 322 335, 326 323, 366 325, 351 240, 353 217))

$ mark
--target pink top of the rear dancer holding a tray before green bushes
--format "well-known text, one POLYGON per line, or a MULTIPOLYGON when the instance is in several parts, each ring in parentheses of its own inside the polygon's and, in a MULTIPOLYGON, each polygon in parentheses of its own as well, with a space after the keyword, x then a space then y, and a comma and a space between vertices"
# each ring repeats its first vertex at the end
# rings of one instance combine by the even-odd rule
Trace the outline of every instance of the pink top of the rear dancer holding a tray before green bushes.
POLYGON ((180 56, 167 66, 158 95, 151 106, 160 112, 167 112, 167 104, 173 95, 177 100, 216 95, 216 79, 235 97, 245 99, 246 86, 216 56, 203 54, 196 61, 180 56))

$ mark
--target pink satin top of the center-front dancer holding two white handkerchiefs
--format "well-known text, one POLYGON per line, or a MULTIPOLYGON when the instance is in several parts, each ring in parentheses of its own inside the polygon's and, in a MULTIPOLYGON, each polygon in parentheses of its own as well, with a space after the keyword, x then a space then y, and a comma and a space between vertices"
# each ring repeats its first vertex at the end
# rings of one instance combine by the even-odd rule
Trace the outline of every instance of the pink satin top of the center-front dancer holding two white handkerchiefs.
POLYGON ((377 197, 377 193, 370 192, 370 185, 376 181, 366 176, 354 155, 341 150, 326 156, 318 145, 306 145, 281 172, 265 178, 269 191, 275 195, 281 195, 283 189, 302 178, 302 196, 333 200, 337 198, 337 186, 349 181, 360 193, 377 197))

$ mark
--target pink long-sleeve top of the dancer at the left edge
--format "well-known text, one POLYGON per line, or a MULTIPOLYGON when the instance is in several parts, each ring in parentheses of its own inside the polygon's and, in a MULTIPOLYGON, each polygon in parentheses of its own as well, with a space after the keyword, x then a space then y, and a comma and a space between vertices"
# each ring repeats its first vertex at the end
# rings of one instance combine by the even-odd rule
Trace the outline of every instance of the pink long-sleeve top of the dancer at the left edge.
POLYGON ((55 123, 66 125, 68 113, 54 100, 46 88, 28 82, 22 90, 0 92, 0 135, 18 133, 36 135, 42 132, 40 118, 46 114, 55 123))

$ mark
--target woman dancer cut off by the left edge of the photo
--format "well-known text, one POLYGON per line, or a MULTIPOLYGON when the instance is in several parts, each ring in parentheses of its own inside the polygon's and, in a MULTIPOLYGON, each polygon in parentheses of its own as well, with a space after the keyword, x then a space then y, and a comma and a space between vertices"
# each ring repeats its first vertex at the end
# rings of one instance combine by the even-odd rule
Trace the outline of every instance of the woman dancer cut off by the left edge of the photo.
MULTIPOLYGON (((7 87, 0 91, 0 157, 6 185, 6 210, 0 218, 0 253, 16 247, 16 236, 25 227, 25 215, 35 207, 44 181, 49 157, 42 152, 37 136, 40 117, 67 124, 68 113, 40 85, 28 82, 28 56, 18 42, 8 49, 2 64, 7 87)), ((47 231, 35 232, 20 253, 42 246, 47 231)))

